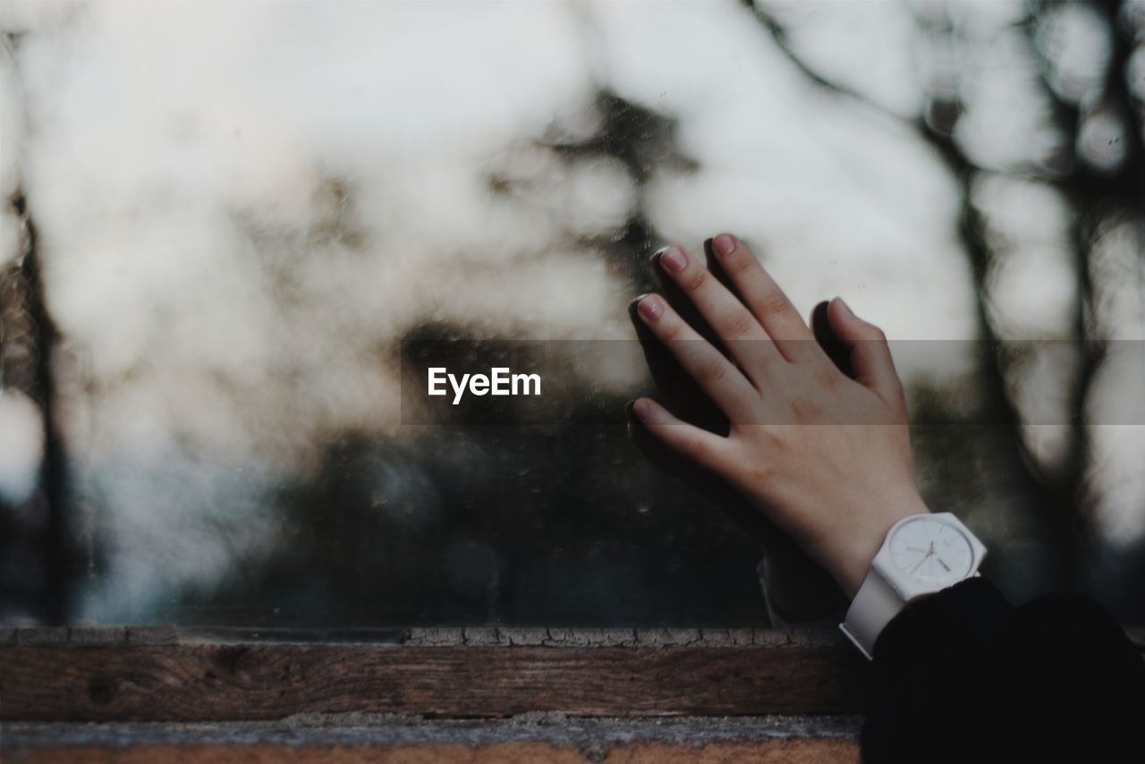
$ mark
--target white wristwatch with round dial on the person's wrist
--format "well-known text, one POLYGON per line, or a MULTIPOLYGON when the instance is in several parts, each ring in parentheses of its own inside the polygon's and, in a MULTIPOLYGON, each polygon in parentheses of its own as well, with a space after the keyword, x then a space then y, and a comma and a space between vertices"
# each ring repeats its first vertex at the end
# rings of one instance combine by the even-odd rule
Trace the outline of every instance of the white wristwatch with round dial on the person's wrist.
POLYGON ((911 514, 886 534, 839 624, 868 659, 875 640, 907 602, 978 575, 986 546, 949 512, 911 514))

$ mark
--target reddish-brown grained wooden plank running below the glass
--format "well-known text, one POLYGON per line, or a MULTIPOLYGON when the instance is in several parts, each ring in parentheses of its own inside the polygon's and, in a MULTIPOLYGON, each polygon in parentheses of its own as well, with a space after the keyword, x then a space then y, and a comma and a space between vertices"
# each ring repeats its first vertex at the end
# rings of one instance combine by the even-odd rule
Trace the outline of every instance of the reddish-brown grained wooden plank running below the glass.
POLYGON ((294 714, 503 717, 848 714, 842 645, 544 647, 35 644, 0 648, 0 719, 227 720, 294 714))

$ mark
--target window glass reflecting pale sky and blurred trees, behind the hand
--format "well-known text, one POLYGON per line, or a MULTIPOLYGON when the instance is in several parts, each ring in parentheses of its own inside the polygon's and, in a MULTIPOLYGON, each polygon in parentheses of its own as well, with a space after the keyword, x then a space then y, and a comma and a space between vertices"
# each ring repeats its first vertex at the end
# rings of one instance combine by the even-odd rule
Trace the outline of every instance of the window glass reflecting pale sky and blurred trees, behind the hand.
POLYGON ((829 619, 625 432, 648 255, 722 230, 894 340, 927 501, 1008 594, 1145 622, 1111 7, 0 6, 0 622, 829 619), (544 344, 560 392, 412 417, 411 340, 544 344))

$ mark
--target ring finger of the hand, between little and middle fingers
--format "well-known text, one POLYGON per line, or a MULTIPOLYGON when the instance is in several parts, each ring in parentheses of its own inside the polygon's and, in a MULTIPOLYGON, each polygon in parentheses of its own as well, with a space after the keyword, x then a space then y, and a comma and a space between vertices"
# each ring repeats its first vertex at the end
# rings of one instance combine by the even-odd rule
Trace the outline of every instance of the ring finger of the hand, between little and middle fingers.
POLYGON ((724 354, 706 342, 657 294, 637 302, 637 314, 689 377, 733 422, 749 422, 759 394, 724 354))

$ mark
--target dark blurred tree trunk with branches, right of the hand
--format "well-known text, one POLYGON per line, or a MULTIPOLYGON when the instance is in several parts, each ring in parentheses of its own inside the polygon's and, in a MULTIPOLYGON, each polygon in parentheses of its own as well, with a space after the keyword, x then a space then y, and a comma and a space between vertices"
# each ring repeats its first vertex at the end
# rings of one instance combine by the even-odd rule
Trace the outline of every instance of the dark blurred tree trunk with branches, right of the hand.
MULTIPOLYGON (((998 331, 989 315, 988 275, 996 253, 990 249, 985 237, 985 221, 981 212, 976 208, 971 196, 974 179, 981 172, 954 139, 954 125, 962 115, 964 107, 955 94, 953 97, 934 97, 926 104, 925 113, 907 119, 897 115, 859 90, 832 81, 815 71, 805 62, 792 46, 783 24, 766 9, 747 0, 745 5, 759 23, 767 30, 779 49, 800 71, 807 80, 819 89, 838 97, 853 100, 866 108, 876 110, 886 117, 908 126, 915 135, 931 145, 942 158, 947 168, 957 181, 960 192, 958 231, 974 278, 977 300, 977 322, 987 348, 998 346, 998 331)), ((1045 78, 1045 61, 1034 41, 1035 27, 1040 14, 1049 13, 1055 3, 1039 3, 1024 19, 1022 30, 1032 55, 1041 64, 1042 88, 1053 104, 1056 127, 1067 136, 1068 160, 1060 172, 1037 172, 1026 168, 1026 173, 1058 188, 1074 211, 1072 221, 1071 245, 1074 252, 1074 268, 1077 278, 1079 300, 1072 317, 1074 339, 1082 348, 1079 372, 1069 391, 1069 436, 1067 454, 1060 467, 1047 472, 1029 451, 1020 435, 1022 424, 1019 408, 1010 394, 1006 378, 1006 365, 1002 354, 990 352, 984 354, 981 365, 987 396, 984 405, 990 422, 1004 424, 1012 433, 1010 442, 1014 460, 1022 467, 1024 488, 1036 504, 1042 507, 1042 520, 1045 523, 1055 553, 1061 569, 1063 583, 1075 585, 1081 577, 1081 558, 1083 550, 1092 542, 1093 530, 1085 509, 1085 467, 1089 458, 1088 431, 1084 419, 1085 401, 1089 397, 1093 378, 1104 357, 1104 344, 1095 337, 1088 323, 1090 306, 1093 298, 1090 260, 1093 231, 1101 216, 1111 210, 1142 210, 1143 188, 1145 188, 1145 166, 1140 132, 1132 124, 1136 117, 1139 124, 1139 104, 1132 95, 1127 81, 1127 63, 1132 54, 1132 40, 1124 30, 1119 30, 1119 0, 1101 0, 1096 8, 1108 25, 1113 39, 1111 62, 1106 72, 1104 92, 1100 94, 1101 108, 1112 110, 1123 121, 1123 133, 1128 140, 1124 160, 1114 172, 1098 172, 1079 157, 1079 128, 1084 115, 1064 102, 1050 87, 1045 78)), ((929 30, 935 33, 951 33, 949 21, 941 29, 929 30)))

